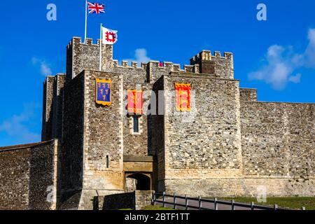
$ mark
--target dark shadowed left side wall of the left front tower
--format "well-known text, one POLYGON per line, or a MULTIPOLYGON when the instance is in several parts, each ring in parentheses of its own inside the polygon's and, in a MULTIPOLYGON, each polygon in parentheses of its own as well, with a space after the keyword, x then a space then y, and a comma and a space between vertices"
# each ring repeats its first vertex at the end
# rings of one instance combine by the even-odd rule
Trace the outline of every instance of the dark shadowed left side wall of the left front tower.
POLYGON ((84 78, 79 75, 64 85, 62 172, 59 176, 62 203, 83 186, 83 102, 84 78))

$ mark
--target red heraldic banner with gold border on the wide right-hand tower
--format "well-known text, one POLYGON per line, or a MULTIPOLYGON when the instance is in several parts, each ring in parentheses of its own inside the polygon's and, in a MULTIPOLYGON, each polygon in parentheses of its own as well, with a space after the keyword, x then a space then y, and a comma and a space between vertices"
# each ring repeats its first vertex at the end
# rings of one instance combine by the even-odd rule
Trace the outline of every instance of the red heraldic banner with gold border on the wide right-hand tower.
POLYGON ((190 111, 190 84, 175 83, 176 111, 190 111))

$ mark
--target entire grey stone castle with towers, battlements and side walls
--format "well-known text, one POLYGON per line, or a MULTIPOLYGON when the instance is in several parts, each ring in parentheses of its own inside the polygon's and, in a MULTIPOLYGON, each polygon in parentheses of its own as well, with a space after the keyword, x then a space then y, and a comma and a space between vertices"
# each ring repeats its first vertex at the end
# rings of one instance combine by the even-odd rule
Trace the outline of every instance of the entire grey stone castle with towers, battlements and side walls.
POLYGON ((72 38, 66 73, 43 86, 42 142, 0 148, 0 209, 92 209, 132 190, 315 195, 315 104, 258 102, 230 52, 202 50, 182 68, 99 49, 72 38), (96 78, 111 80, 111 105, 95 102, 96 78), (190 84, 190 111, 176 111, 175 83, 190 84), (127 113, 127 90, 144 91, 141 115, 127 113))

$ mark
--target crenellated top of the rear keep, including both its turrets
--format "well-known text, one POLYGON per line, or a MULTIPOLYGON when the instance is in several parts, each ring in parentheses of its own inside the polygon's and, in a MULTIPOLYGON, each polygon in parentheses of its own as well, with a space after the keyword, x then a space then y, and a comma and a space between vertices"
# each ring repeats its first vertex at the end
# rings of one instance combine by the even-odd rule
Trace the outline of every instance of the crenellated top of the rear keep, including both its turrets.
MULTIPOLYGON (((80 37, 72 38, 67 46, 67 80, 71 80, 84 69, 99 69, 100 43, 99 39, 93 43, 92 38, 86 38, 85 41, 80 37)), ((161 63, 153 60, 139 65, 138 62, 128 63, 126 60, 118 62, 118 60, 113 59, 113 45, 104 45, 102 48, 102 71, 113 71, 115 68, 118 69, 116 72, 120 73, 123 72, 122 69, 128 69, 128 73, 131 71, 134 74, 135 72, 146 73, 146 81, 155 80, 153 77, 155 72, 158 73, 156 76, 161 76, 163 73, 181 72, 204 73, 225 78, 234 77, 233 54, 231 52, 224 52, 222 55, 220 51, 214 51, 214 55, 212 55, 211 50, 202 50, 190 59, 190 64, 183 66, 173 62, 161 63)))

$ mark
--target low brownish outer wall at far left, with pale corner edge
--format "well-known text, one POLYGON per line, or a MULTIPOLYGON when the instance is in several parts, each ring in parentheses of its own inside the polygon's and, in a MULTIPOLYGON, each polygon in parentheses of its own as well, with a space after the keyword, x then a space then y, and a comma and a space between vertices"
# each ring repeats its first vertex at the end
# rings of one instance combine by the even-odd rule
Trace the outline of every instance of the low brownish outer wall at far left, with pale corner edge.
POLYGON ((58 141, 0 148, 0 209, 56 209, 58 141))

